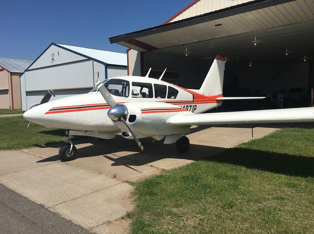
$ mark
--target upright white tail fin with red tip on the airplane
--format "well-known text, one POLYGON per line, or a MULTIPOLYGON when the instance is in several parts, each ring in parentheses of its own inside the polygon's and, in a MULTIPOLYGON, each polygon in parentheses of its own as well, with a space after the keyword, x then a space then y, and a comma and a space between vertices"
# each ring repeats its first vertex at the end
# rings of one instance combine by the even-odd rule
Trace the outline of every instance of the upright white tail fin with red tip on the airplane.
POLYGON ((195 90, 206 96, 214 96, 222 94, 224 84, 225 59, 217 55, 210 67, 207 76, 199 90, 195 90))

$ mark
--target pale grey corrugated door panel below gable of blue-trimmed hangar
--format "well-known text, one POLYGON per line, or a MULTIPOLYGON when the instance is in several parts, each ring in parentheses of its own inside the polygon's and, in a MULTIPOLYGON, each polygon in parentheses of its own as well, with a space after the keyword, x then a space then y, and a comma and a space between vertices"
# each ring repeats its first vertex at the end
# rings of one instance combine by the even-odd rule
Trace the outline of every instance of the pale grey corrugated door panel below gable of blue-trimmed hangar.
POLYGON ((25 71, 26 91, 94 87, 91 60, 25 71))

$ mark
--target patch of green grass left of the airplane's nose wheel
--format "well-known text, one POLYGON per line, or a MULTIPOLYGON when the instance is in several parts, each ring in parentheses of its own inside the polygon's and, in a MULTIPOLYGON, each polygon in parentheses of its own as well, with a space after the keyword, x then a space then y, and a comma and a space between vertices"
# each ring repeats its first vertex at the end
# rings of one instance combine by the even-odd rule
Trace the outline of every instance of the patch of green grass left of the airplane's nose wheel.
POLYGON ((31 123, 23 116, 0 118, 0 149, 20 149, 31 146, 46 145, 64 139, 63 129, 46 128, 31 123))

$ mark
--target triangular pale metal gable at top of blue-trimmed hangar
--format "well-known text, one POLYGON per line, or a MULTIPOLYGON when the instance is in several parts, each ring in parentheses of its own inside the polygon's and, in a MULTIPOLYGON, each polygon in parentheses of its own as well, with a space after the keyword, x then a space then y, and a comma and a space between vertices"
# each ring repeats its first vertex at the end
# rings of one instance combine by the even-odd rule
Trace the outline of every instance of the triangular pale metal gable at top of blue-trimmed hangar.
POLYGON ((73 61, 78 61, 78 60, 83 60, 83 59, 86 59, 86 58, 83 56, 77 55, 73 52, 62 49, 60 47, 57 47, 55 45, 51 45, 48 48, 48 50, 46 50, 46 52, 43 53, 32 66, 30 66, 29 69, 57 65, 61 63, 73 62, 73 61), (58 52, 59 52, 59 55, 58 55, 58 52), (51 56, 52 53, 54 53, 53 57, 51 56), (54 59, 54 61, 52 61, 52 58, 54 59))

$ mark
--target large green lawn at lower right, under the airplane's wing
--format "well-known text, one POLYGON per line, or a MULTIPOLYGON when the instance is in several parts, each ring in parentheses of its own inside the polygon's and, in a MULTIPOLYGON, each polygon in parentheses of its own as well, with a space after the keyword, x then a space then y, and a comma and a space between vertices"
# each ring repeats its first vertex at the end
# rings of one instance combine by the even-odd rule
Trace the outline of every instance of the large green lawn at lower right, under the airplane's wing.
POLYGON ((132 233, 313 233, 314 129, 285 128, 136 183, 132 233))

